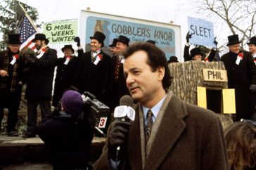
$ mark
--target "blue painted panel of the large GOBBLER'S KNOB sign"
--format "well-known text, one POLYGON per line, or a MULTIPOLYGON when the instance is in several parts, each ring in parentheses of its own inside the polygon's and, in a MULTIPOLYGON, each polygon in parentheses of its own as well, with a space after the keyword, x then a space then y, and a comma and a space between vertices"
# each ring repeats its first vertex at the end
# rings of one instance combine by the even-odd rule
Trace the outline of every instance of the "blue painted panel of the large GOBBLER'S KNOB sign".
POLYGON ((99 31, 105 34, 105 46, 112 44, 113 39, 124 35, 130 39, 130 44, 135 41, 155 41, 155 45, 165 51, 166 56, 175 55, 175 32, 171 28, 156 27, 123 20, 99 18, 89 16, 86 20, 85 43, 90 43, 90 37, 99 31))

